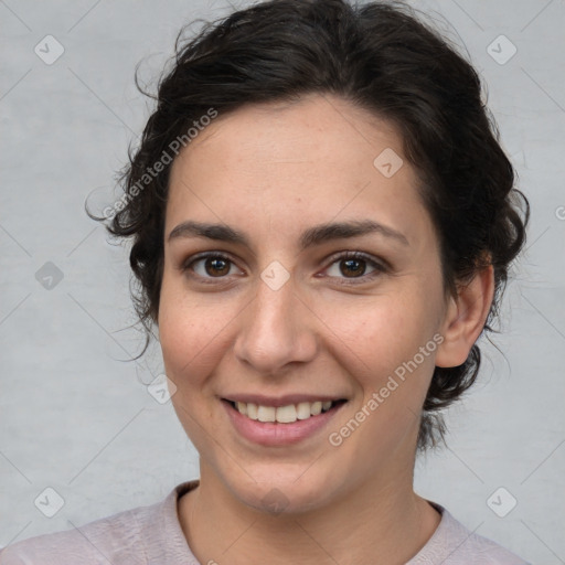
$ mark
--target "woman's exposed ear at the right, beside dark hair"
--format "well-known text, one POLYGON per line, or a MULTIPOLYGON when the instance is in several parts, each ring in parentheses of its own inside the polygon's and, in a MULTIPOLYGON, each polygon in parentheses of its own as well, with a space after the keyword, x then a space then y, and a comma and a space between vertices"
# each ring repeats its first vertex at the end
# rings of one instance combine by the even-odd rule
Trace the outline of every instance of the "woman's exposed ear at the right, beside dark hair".
POLYGON ((494 296, 492 265, 477 271, 470 282, 458 286, 457 297, 450 297, 440 329, 444 341, 436 354, 436 365, 458 366, 465 363, 479 338, 494 296))

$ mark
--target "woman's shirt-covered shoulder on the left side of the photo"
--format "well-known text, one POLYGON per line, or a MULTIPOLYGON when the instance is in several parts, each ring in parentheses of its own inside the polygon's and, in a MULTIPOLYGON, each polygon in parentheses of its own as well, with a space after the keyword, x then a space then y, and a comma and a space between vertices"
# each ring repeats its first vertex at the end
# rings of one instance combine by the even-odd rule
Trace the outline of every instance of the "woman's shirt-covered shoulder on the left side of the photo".
POLYGON ((156 504, 13 543, 0 550, 0 565, 141 565, 161 555, 166 542, 182 552, 186 547, 177 529, 177 500, 186 487, 190 483, 175 487, 156 504))

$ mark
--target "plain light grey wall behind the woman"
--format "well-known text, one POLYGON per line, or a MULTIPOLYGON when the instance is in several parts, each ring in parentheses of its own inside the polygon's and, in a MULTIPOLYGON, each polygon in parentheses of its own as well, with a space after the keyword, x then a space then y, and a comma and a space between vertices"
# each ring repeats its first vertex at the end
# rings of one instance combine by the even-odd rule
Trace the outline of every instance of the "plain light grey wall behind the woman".
MULTIPOLYGON (((480 381, 448 415, 449 448, 418 461, 416 490, 531 562, 565 563, 565 3, 413 4, 468 50, 533 207, 493 337, 501 351, 483 341, 480 381), (504 64, 487 51, 500 34, 518 49, 504 64), (500 487, 518 500, 504 518, 487 503, 500 487)), ((148 394, 159 350, 128 361, 142 340, 127 248, 108 244, 84 202, 114 201, 114 174, 152 107, 136 64, 154 85, 180 25, 230 10, 0 1, 0 546, 157 502, 198 477, 172 406, 148 394), (47 34, 65 50, 51 65, 34 52, 47 34), (63 274, 52 288, 35 275, 47 262, 63 274), (34 504, 46 488, 64 500, 53 518, 34 504)))

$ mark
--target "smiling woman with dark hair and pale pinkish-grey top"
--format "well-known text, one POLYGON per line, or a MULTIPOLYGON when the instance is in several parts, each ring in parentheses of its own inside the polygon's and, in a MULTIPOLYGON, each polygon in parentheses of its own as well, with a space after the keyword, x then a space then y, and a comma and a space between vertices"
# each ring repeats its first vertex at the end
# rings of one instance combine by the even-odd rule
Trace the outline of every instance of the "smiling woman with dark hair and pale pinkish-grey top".
POLYGON ((524 564, 413 489, 525 238, 492 129, 399 3, 275 0, 178 46, 105 218, 200 480, 0 563, 524 564))

